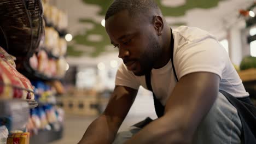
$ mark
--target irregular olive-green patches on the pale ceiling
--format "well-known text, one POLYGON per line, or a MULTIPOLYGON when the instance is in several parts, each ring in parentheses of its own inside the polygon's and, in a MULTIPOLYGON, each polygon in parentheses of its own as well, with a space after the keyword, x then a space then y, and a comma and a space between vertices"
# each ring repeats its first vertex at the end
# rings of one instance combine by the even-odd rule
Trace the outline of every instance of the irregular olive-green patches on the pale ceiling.
MULTIPOLYGON (((113 2, 113 0, 81 0, 86 4, 95 4, 101 7, 101 11, 99 12, 98 15, 104 16, 106 14, 106 11, 109 7, 109 5, 113 2)), ((171 0, 170 0, 171 1, 171 0)), ((175 1, 175 0, 173 0, 175 1)), ((203 9, 208 9, 208 8, 213 8, 218 5, 218 2, 224 1, 224 0, 187 0, 184 5, 180 5, 178 7, 166 7, 164 5, 160 5, 160 0, 158 0, 159 7, 162 10, 163 15, 165 16, 183 16, 185 15, 186 11, 193 9, 193 8, 203 8, 203 9)), ((86 46, 91 46, 95 47, 94 52, 92 53, 86 53, 89 54, 92 57, 96 57, 100 55, 101 52, 105 51, 105 46, 109 45, 109 38, 108 35, 105 31, 105 28, 101 26, 100 23, 96 23, 95 21, 92 21, 91 19, 81 19, 79 20, 80 23, 92 23, 94 25, 94 28, 86 31, 85 34, 78 34, 75 35, 74 41, 77 44, 82 44, 86 46), (94 42, 88 40, 88 35, 90 34, 99 34, 102 35, 103 40, 99 42, 94 42)), ((185 22, 179 22, 177 21, 176 23, 170 23, 172 26, 181 26, 181 25, 186 25, 185 22)), ((68 52, 71 53, 71 55, 79 56, 82 55, 80 51, 75 51, 74 50, 75 45, 72 45, 69 47, 68 52)))

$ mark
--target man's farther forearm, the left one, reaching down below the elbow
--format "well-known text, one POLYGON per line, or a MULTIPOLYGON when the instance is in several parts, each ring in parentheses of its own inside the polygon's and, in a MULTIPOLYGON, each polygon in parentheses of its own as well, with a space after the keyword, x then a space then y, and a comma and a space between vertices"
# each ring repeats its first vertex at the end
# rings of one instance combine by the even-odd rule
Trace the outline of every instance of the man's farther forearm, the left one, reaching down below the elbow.
POLYGON ((109 122, 107 116, 102 115, 89 125, 78 144, 112 143, 117 131, 118 128, 109 122))

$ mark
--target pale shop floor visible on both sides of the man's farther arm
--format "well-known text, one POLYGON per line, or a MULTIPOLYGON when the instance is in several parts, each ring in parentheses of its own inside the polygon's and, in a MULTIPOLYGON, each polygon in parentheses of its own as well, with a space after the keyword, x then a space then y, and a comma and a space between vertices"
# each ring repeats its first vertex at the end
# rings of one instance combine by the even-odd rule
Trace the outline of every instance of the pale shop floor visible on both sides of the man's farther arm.
MULTIPOLYGON (((153 119, 156 118, 153 98, 148 96, 137 97, 119 131, 126 130, 130 125, 142 121, 148 116, 153 119)), ((51 144, 77 143, 82 138, 89 124, 94 121, 95 118, 96 117, 67 115, 65 118, 63 138, 59 141, 52 142, 51 144)))

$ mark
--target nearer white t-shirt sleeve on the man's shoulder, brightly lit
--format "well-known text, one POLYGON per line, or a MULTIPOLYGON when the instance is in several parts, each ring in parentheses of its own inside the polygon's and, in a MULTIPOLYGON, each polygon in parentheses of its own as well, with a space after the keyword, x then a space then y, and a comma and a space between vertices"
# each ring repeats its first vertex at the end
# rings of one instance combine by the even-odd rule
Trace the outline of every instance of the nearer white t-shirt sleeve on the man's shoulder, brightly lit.
POLYGON ((222 79, 228 53, 219 42, 208 37, 198 41, 187 41, 178 47, 174 55, 174 67, 178 79, 189 73, 210 72, 222 79))

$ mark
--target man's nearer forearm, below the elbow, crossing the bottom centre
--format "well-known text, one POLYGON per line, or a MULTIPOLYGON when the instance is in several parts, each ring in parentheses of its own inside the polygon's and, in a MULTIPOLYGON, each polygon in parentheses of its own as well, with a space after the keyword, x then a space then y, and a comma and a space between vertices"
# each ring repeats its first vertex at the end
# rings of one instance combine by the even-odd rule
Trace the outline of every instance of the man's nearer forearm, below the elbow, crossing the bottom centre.
POLYGON ((156 119, 147 127, 143 128, 139 133, 134 135, 132 139, 126 141, 128 143, 190 143, 192 136, 185 131, 184 125, 179 121, 168 121, 164 117, 156 119))

